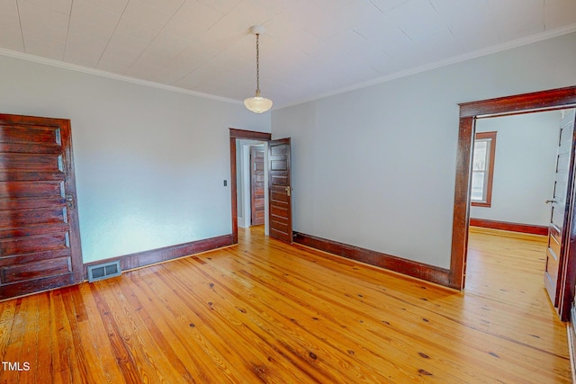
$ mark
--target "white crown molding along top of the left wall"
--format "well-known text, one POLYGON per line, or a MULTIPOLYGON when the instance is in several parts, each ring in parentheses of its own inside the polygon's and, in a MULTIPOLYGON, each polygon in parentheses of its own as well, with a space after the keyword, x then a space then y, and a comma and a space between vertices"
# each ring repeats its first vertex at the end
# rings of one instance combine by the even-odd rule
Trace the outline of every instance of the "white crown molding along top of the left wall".
POLYGON ((151 88, 162 89, 165 91, 175 92, 178 94, 188 94, 191 96, 202 97, 203 99, 210 99, 210 100, 216 100, 216 101, 224 102, 224 103, 232 103, 232 104, 242 105, 242 102, 240 102, 238 100, 234 100, 234 99, 229 99, 227 97, 216 96, 214 94, 203 94, 202 92, 191 91, 189 89, 180 88, 180 87, 174 86, 174 85, 160 84, 160 83, 155 83, 153 81, 141 80, 141 79, 135 78, 135 77, 113 74, 112 72, 106 72, 106 71, 103 71, 100 69, 78 66, 76 64, 71 64, 71 63, 67 63, 64 61, 54 60, 52 58, 40 58, 40 56, 34 56, 34 55, 30 55, 28 53, 18 52, 15 50, 0 48, 0 55, 1 56, 7 56, 9 58, 19 58, 22 60, 31 61, 33 63, 44 64, 44 65, 50 66, 50 67, 58 67, 58 68, 62 68, 62 69, 68 69, 71 71, 81 72, 81 73, 84 73, 87 75, 107 77, 107 78, 111 78, 113 80, 123 81, 125 83, 149 86, 151 88))

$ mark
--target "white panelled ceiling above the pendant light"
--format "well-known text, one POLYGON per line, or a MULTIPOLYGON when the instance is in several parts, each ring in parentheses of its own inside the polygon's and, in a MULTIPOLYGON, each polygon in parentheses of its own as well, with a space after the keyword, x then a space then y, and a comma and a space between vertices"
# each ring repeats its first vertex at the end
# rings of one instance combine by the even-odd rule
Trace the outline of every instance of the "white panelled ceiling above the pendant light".
POLYGON ((253 24, 262 94, 284 106, 576 31, 576 0, 0 0, 2 49, 237 101, 253 24))

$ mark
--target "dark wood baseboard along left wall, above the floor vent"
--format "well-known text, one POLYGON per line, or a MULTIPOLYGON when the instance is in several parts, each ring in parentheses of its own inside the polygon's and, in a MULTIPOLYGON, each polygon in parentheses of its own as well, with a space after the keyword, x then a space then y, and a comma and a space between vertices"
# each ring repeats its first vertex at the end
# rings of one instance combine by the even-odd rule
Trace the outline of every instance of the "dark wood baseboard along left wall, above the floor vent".
POLYGON ((136 254, 122 255, 111 257, 105 260, 98 260, 92 263, 84 264, 85 280, 88 280, 87 267, 101 263, 115 262, 120 260, 121 271, 130 271, 146 265, 166 262, 168 260, 184 257, 188 255, 200 254, 201 252, 211 251, 212 249, 221 248, 222 246, 233 245, 232 235, 223 235, 219 237, 205 238, 190 243, 179 244, 177 246, 165 246, 163 248, 151 249, 149 251, 138 252, 136 254))

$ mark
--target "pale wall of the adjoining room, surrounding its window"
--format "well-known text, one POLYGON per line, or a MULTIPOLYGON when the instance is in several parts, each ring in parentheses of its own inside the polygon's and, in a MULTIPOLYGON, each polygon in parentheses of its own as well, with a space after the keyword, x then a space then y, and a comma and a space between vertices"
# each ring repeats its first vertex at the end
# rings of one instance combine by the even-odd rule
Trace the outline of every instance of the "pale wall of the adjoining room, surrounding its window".
POLYGON ((548 226, 561 112, 538 112, 476 122, 476 132, 497 131, 491 207, 472 207, 471 218, 548 226))

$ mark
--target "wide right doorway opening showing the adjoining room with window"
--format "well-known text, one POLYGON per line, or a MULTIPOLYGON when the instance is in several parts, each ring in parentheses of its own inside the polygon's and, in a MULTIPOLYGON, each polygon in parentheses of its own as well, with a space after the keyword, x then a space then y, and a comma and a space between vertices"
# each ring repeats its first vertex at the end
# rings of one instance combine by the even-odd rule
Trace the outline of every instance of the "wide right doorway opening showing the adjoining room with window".
MULTIPOLYGON (((543 285, 543 275, 553 264, 552 259, 546 259, 552 252, 546 249, 550 245, 548 228, 562 228, 562 224, 551 225, 551 208, 563 210, 566 194, 565 177, 564 183, 557 179, 556 160, 559 153, 571 149, 572 132, 563 129, 562 121, 563 115, 568 117, 572 112, 554 110, 477 119, 465 265, 467 292, 487 290, 503 299, 511 292, 531 291, 540 297, 543 287, 550 290, 548 282, 543 285), (559 137, 564 142, 562 150, 559 137), (551 207, 550 202, 559 193, 564 196, 551 207), (523 278, 514 279, 518 276, 523 278)), ((568 163, 562 160, 559 165, 566 175, 568 163)), ((521 305, 519 301, 525 297, 518 294, 514 300, 521 305)))

